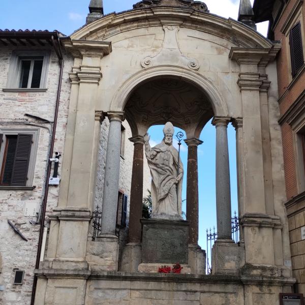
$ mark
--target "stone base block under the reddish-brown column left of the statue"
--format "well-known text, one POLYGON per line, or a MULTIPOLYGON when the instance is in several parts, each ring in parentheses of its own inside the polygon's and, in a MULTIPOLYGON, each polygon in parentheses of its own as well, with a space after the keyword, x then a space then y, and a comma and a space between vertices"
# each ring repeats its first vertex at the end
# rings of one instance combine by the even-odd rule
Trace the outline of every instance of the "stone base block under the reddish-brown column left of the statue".
POLYGON ((123 248, 119 271, 137 272, 142 260, 142 245, 137 242, 129 242, 123 248))

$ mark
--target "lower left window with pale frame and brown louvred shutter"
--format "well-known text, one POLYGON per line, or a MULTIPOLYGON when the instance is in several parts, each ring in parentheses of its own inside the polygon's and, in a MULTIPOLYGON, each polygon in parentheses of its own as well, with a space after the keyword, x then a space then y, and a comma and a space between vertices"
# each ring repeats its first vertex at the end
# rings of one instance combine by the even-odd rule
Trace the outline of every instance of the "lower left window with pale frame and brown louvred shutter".
POLYGON ((38 130, 0 130, 0 187, 32 186, 38 130))

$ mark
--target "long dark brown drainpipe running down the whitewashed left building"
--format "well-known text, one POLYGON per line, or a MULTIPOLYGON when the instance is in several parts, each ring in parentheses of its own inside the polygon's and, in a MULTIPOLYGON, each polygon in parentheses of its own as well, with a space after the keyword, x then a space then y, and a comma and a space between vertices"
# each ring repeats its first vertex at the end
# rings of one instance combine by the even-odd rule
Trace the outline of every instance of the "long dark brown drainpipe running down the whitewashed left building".
MULTIPOLYGON (((59 81, 58 81, 58 88, 57 88, 57 98, 56 98, 56 105, 55 105, 55 113, 54 113, 54 120, 53 120, 53 129, 52 129, 52 137, 51 137, 51 144, 49 148, 49 157, 53 156, 54 151, 54 142, 55 142, 55 133, 56 133, 56 126, 57 126, 57 117, 58 117, 58 109, 59 109, 59 98, 60 98, 60 91, 62 89, 62 81, 63 81, 63 71, 64 71, 64 58, 62 49, 60 48, 60 41, 59 37, 57 37, 57 44, 58 48, 55 45, 54 36, 51 37, 53 48, 56 52, 56 55, 58 57, 58 63, 60 65, 60 72, 59 72, 59 81)), ((49 192, 49 178, 51 175, 51 165, 52 163, 47 160, 48 166, 47 166, 47 176, 45 180, 45 191, 42 201, 42 208, 40 212, 40 231, 39 231, 39 240, 38 240, 38 250, 37 250, 37 257, 36 257, 36 265, 35 268, 39 269, 39 263, 40 263, 40 257, 42 253, 42 245, 43 245, 43 236, 44 236, 44 223, 45 223, 45 216, 46 216, 46 208, 47 208, 47 199, 48 199, 48 192, 49 192)), ((36 287, 37 287, 37 276, 34 275, 34 283, 33 283, 33 290, 32 290, 32 299, 31 299, 31 305, 34 305, 35 301, 35 294, 36 294, 36 287)))

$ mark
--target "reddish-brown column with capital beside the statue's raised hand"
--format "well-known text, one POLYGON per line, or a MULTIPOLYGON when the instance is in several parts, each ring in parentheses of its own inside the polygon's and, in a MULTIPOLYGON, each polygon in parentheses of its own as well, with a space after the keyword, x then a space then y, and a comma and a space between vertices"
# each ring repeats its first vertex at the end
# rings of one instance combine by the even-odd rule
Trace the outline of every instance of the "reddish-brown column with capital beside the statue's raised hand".
POLYGON ((129 139, 134 143, 134 156, 132 166, 130 214, 129 214, 129 242, 140 243, 143 199, 143 136, 129 139))

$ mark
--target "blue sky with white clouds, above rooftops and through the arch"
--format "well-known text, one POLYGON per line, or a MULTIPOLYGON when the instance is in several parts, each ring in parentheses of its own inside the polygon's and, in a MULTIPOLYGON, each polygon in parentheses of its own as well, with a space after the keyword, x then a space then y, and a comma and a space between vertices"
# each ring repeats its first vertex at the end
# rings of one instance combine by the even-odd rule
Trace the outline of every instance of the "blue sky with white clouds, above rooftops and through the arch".
MULTIPOLYGON (((254 0, 251 0, 253 3, 254 0)), ((104 0, 104 14, 132 9, 137 0, 104 0)), ((239 0, 205 0, 210 13, 237 19, 239 0)), ((48 29, 70 35, 85 23, 89 0, 1 0, 0 29, 48 29)), ((268 24, 258 24, 258 31, 266 36, 268 24)), ((149 129, 151 144, 161 142, 163 127, 155 126, 149 129)), ((178 129, 175 130, 175 133, 178 129)), ((203 129, 200 139, 204 141, 198 148, 199 168, 199 245, 206 249, 206 229, 216 226, 216 186, 215 186, 215 156, 216 130, 210 122, 203 129)), ((228 127, 231 200, 232 212, 237 211, 237 179, 235 130, 228 127)), ((181 146, 181 160, 187 167, 187 146, 181 146)), ((182 199, 186 199, 186 175, 182 199)), ((183 210, 186 211, 185 206, 183 210)))

